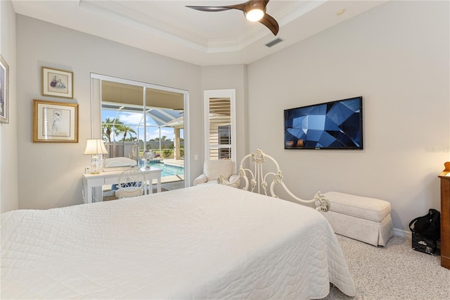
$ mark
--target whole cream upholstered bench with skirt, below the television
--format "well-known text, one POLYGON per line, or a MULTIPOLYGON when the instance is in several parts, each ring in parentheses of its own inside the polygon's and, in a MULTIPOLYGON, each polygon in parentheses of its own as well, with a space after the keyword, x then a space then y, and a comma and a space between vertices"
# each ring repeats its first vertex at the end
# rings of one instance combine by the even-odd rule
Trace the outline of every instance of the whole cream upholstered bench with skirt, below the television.
POLYGON ((323 213, 334 232, 374 246, 385 246, 393 235, 391 204, 387 201, 327 192, 330 211, 323 213))

